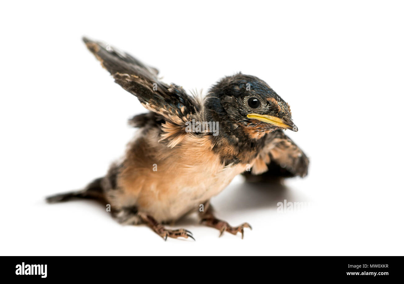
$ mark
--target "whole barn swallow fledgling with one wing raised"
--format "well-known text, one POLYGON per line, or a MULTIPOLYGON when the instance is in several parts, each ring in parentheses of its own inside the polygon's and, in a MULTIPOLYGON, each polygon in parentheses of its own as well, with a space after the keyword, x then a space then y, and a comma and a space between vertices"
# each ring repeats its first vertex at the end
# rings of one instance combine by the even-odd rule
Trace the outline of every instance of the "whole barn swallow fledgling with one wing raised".
POLYGON ((162 83, 157 69, 130 54, 83 40, 115 82, 149 112, 129 120, 139 131, 104 177, 48 202, 98 199, 111 205, 118 222, 147 224, 164 239, 193 238, 188 230, 163 224, 199 211, 202 224, 243 236, 250 225, 233 227, 215 218, 211 197, 242 173, 263 178, 307 174, 308 158, 283 131, 297 131, 290 107, 264 81, 238 73, 221 79, 201 99, 162 83))

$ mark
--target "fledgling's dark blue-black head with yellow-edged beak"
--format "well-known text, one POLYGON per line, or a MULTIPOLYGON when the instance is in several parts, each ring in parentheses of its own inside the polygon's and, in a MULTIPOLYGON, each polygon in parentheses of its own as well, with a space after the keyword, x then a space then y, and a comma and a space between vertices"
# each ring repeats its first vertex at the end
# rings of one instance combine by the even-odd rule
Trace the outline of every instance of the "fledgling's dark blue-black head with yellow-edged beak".
POLYGON ((225 77, 210 89, 208 97, 208 108, 251 136, 277 129, 297 131, 289 104, 257 77, 241 73, 225 77))

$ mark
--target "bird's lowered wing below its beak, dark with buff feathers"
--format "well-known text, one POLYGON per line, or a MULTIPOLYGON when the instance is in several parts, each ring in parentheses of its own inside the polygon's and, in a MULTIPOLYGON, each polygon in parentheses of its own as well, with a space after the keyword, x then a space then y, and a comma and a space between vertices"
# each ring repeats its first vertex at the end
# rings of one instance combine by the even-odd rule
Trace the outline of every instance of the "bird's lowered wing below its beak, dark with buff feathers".
POLYGON ((274 178, 307 175, 309 159, 303 151, 277 130, 267 135, 266 145, 260 152, 251 171, 245 172, 249 181, 271 180, 274 178))

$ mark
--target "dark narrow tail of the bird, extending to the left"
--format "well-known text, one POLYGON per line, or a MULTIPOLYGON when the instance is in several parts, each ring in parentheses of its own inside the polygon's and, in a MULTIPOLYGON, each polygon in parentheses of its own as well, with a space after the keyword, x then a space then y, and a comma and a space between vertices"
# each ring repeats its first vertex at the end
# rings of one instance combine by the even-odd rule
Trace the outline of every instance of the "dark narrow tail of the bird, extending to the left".
POLYGON ((56 195, 51 195, 46 197, 48 203, 57 203, 63 201, 69 201, 72 199, 103 199, 103 188, 102 182, 103 178, 97 178, 90 182, 84 189, 79 191, 72 191, 67 193, 59 193, 56 195))

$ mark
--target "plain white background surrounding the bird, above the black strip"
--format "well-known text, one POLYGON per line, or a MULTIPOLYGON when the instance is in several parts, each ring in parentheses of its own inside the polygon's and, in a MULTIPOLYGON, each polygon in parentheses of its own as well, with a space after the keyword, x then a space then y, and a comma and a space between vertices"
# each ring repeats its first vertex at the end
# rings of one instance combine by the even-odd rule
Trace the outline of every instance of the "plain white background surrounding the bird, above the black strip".
POLYGON ((2 255, 403 255, 403 4, 135 1, 2 3, 2 255), (286 100, 307 178, 284 186, 237 177, 213 198, 240 235, 175 227, 164 242, 121 226, 102 205, 46 195, 103 176, 145 112, 81 42, 106 41, 156 66, 163 81, 204 89, 238 71, 286 100), (280 213, 277 203, 307 202, 280 213))

